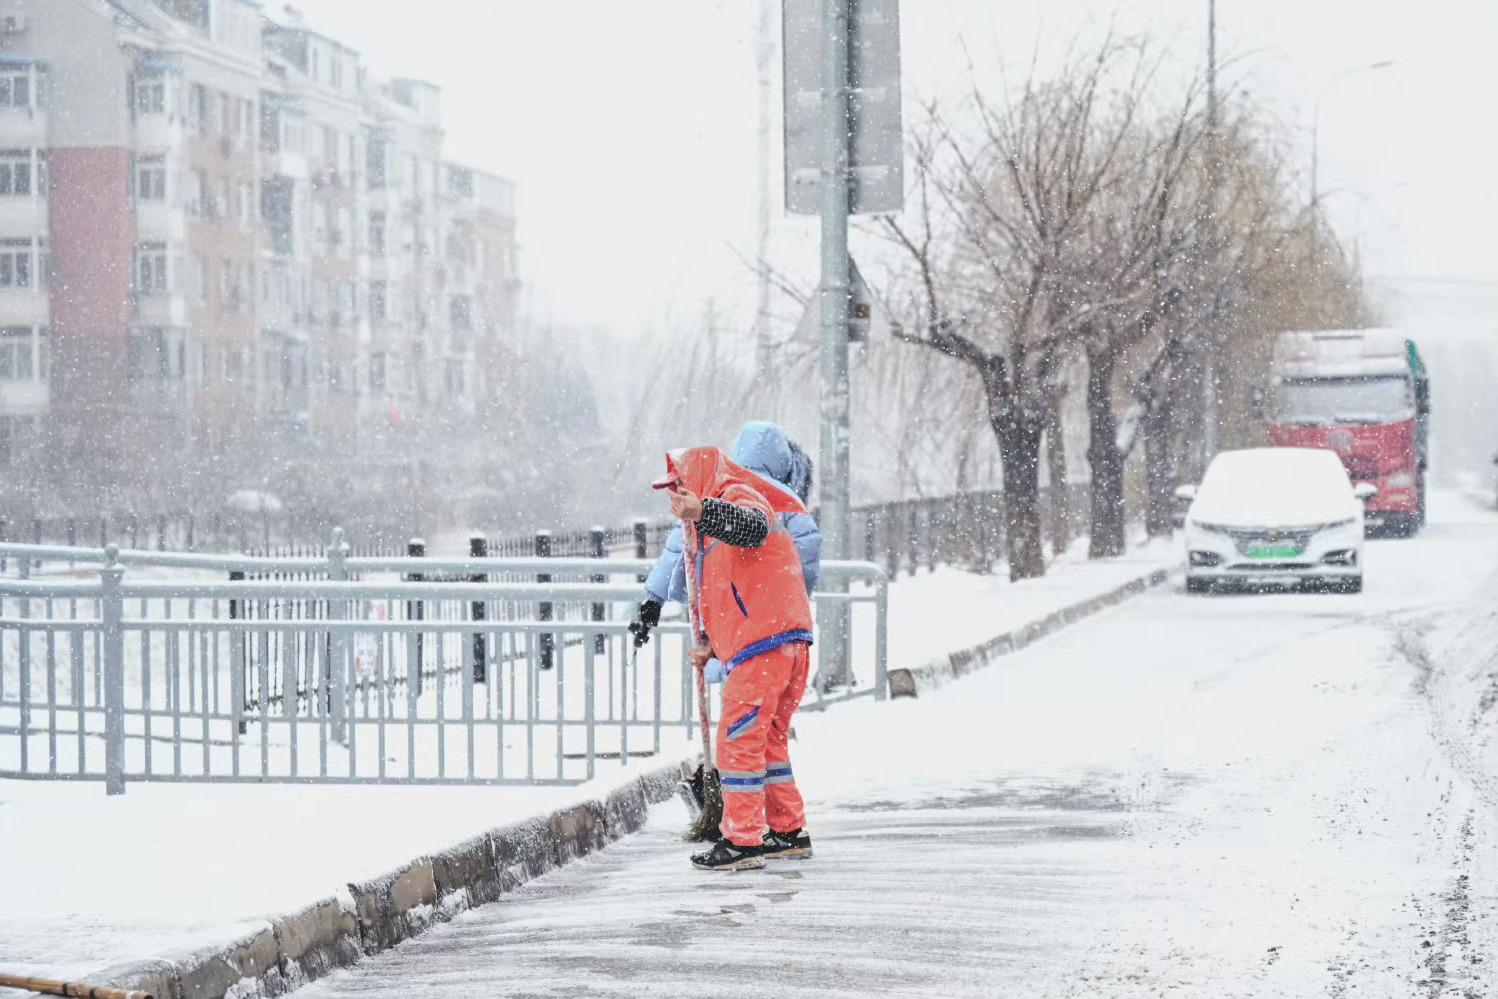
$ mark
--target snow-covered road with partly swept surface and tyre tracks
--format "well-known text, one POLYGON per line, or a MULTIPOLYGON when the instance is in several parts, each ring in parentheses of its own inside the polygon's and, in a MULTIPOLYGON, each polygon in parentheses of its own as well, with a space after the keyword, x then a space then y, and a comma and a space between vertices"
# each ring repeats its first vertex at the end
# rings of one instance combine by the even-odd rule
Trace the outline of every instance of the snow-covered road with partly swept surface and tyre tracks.
POLYGON ((1498 995, 1495 571, 1450 499, 1360 596, 1146 595, 801 717, 807 863, 694 872, 658 809, 300 995, 1498 995))

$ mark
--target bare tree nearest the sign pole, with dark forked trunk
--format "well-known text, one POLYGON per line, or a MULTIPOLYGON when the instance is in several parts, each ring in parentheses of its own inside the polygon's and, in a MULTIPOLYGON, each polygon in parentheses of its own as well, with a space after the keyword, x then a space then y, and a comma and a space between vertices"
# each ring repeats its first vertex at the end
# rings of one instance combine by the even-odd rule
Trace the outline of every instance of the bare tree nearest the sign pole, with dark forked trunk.
POLYGON ((1074 294, 1064 261, 1119 153, 1092 138, 1125 55, 1110 40, 1011 102, 974 94, 975 139, 929 108, 914 145, 917 220, 882 223, 918 289, 899 335, 966 364, 983 386, 1016 580, 1046 571, 1040 445, 1053 374, 1101 304, 1074 294))

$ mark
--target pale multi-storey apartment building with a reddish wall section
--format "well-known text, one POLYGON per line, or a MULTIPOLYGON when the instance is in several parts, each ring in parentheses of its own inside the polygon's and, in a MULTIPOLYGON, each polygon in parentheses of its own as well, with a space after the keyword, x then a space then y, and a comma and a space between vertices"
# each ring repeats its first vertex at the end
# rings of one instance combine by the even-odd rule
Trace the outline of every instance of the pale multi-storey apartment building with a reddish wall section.
POLYGON ((514 190, 440 91, 256 0, 0 0, 0 458, 472 413, 514 190))

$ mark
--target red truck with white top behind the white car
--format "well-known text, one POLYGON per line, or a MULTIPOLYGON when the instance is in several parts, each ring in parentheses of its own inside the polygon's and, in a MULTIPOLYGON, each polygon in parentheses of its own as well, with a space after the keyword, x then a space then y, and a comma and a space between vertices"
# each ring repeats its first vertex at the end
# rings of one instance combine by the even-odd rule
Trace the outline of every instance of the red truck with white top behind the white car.
POLYGON ((1282 333, 1264 397, 1278 446, 1336 451, 1368 500, 1369 533, 1407 538, 1425 524, 1431 379, 1398 330, 1282 333))

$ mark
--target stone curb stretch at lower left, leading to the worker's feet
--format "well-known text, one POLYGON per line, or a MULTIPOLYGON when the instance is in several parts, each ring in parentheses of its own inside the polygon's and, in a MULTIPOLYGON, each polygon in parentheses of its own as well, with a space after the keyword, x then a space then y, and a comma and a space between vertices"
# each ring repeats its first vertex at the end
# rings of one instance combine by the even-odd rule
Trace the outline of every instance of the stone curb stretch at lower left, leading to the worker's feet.
POLYGON ((640 830, 650 806, 671 798, 688 770, 685 761, 658 767, 602 800, 514 822, 421 857, 380 878, 351 884, 340 897, 273 918, 232 944, 178 962, 108 968, 90 980, 142 989, 157 999, 285 995, 640 830))

